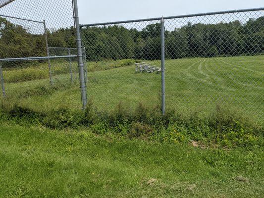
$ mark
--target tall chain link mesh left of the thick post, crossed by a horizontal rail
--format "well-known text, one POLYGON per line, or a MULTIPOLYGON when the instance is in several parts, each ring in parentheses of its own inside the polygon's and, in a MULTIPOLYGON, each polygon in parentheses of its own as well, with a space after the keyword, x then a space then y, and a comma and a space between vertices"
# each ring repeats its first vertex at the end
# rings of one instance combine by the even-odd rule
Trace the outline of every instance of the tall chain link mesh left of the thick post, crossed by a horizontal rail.
MULTIPOLYGON (((74 26, 72 0, 12 1, 0 8, 0 59, 76 56, 74 26)), ((0 65, 2 102, 37 111, 81 108, 76 57, 2 61, 0 65)))

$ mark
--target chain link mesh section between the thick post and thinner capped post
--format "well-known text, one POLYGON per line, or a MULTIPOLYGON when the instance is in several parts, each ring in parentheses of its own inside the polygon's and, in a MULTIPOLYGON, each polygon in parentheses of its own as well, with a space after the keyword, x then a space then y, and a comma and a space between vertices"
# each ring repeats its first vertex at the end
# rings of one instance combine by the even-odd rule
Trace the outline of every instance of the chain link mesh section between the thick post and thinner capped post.
POLYGON ((132 109, 160 103, 158 20, 83 28, 82 40, 87 93, 99 109, 112 110, 120 102, 132 109))

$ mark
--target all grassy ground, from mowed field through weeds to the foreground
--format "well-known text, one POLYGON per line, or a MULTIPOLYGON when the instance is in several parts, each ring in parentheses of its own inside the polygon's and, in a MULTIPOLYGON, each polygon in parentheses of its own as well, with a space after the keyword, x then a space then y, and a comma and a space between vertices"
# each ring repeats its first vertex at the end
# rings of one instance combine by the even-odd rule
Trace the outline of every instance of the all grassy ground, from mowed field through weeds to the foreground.
POLYGON ((264 56, 166 60, 167 109, 180 114, 166 116, 145 109, 160 104, 160 74, 136 61, 88 62, 88 97, 107 116, 80 111, 74 61, 73 84, 68 62, 52 62, 53 87, 47 63, 4 69, 0 198, 263 197, 264 56), (122 114, 119 102, 144 105, 122 114), (182 116, 193 112, 209 117, 182 116))

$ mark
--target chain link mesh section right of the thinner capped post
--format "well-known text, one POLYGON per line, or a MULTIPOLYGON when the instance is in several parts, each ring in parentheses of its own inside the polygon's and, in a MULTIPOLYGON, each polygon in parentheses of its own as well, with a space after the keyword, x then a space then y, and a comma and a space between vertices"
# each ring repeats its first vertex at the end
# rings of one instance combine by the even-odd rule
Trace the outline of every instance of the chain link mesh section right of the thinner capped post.
POLYGON ((165 20, 167 106, 264 117, 264 10, 165 20))

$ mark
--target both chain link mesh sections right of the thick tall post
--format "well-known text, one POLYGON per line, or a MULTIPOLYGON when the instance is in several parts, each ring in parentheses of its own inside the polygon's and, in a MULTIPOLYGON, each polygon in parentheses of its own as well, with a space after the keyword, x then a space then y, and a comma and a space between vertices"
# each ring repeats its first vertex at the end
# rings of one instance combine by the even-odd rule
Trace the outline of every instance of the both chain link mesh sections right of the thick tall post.
MULTIPOLYGON (((262 122, 264 8, 163 19, 166 109, 208 114, 225 105, 262 122)), ((97 106, 160 108, 160 20, 81 25, 87 92, 97 106)))

